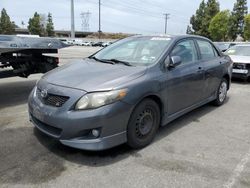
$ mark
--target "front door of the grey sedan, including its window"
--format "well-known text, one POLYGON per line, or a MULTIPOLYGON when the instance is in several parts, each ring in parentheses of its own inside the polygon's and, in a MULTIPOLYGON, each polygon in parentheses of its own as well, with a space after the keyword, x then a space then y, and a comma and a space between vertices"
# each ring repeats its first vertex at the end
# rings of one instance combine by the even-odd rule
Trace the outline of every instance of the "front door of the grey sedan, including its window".
POLYGON ((200 102, 204 91, 204 71, 198 60, 194 40, 178 42, 170 53, 171 56, 181 57, 182 63, 167 72, 170 116, 200 102))

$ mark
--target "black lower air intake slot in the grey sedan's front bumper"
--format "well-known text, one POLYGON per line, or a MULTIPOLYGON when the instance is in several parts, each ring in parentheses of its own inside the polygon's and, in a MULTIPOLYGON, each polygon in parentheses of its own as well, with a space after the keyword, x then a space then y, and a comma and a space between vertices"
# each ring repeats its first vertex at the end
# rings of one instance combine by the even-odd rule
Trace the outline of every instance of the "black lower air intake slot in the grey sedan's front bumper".
POLYGON ((49 135, 59 138, 62 132, 62 129, 59 129, 57 127, 53 127, 50 125, 47 125, 43 122, 41 122, 40 120, 38 120, 37 118, 35 118, 32 114, 30 114, 32 121, 36 124, 36 126, 43 130, 44 132, 48 133, 49 135))

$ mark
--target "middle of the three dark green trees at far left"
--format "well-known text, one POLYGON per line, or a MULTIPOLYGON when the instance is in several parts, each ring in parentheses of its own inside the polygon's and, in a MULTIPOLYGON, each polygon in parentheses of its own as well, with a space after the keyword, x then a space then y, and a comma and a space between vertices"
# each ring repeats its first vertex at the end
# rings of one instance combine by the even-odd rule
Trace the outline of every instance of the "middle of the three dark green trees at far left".
POLYGON ((40 15, 35 12, 33 18, 29 19, 28 30, 33 35, 42 35, 42 25, 40 15))

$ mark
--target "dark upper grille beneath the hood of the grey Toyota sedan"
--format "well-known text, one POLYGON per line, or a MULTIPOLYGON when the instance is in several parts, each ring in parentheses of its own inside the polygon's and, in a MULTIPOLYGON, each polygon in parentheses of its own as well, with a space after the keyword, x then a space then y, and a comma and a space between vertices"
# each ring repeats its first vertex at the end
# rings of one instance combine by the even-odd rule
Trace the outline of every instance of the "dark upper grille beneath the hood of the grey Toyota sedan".
POLYGON ((39 88, 37 88, 36 94, 42 103, 54 107, 61 107, 65 102, 67 102, 67 100, 69 100, 69 97, 67 96, 54 95, 51 93, 48 93, 47 96, 43 98, 41 95, 41 89, 39 88))

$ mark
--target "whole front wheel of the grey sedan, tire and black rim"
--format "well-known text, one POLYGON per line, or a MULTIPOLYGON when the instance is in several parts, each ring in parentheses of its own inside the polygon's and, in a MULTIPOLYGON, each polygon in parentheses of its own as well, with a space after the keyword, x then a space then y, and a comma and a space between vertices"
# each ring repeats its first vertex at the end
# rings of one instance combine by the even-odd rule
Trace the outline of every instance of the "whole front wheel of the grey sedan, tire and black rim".
POLYGON ((134 109, 127 127, 127 144, 133 149, 149 145, 160 125, 160 109, 158 104, 145 99, 134 109))

